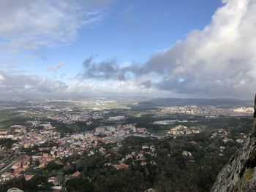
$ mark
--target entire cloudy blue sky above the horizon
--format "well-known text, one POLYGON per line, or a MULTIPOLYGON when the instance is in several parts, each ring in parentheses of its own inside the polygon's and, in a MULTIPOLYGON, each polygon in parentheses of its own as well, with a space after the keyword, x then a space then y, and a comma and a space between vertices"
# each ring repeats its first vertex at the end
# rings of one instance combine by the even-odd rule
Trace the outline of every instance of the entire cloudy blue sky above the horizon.
POLYGON ((0 95, 251 99, 254 0, 0 0, 0 95))

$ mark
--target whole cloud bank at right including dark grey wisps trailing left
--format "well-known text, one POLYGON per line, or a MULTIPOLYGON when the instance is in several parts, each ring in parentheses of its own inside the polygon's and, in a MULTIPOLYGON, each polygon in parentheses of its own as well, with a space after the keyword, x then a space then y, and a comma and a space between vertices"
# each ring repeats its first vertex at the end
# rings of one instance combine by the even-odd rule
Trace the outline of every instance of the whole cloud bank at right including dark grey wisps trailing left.
POLYGON ((203 30, 151 55, 146 64, 83 63, 83 80, 134 81, 173 93, 245 96, 256 88, 256 1, 226 0, 203 30))

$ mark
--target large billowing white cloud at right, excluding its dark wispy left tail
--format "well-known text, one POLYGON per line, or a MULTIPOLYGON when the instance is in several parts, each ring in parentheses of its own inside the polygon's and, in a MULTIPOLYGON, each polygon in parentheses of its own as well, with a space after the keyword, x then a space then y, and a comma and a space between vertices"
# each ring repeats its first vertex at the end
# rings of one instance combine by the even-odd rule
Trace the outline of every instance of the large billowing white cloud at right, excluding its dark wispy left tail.
POLYGON ((255 12, 256 1, 227 1, 203 31, 192 31, 184 42, 148 61, 150 69, 164 66, 163 80, 154 86, 177 93, 255 92, 255 12))

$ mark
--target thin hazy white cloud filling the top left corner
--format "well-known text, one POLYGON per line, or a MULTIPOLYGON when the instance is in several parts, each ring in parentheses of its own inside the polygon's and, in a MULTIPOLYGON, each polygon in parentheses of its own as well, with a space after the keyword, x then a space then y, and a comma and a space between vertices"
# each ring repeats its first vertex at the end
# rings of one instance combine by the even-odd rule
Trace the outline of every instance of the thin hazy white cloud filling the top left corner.
POLYGON ((108 1, 0 0, 0 47, 31 50, 52 47, 77 38, 81 26, 102 19, 108 1))

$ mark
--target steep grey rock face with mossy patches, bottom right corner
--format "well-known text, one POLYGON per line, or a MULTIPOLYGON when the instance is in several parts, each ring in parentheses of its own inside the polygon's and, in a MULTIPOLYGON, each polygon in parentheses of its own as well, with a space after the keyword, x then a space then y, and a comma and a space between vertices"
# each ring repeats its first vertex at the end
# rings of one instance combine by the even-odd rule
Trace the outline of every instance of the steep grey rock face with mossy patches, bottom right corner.
MULTIPOLYGON (((256 96, 254 130, 256 130, 256 96)), ((212 192, 226 191, 256 191, 256 134, 247 138, 230 161, 219 172, 212 192)))

